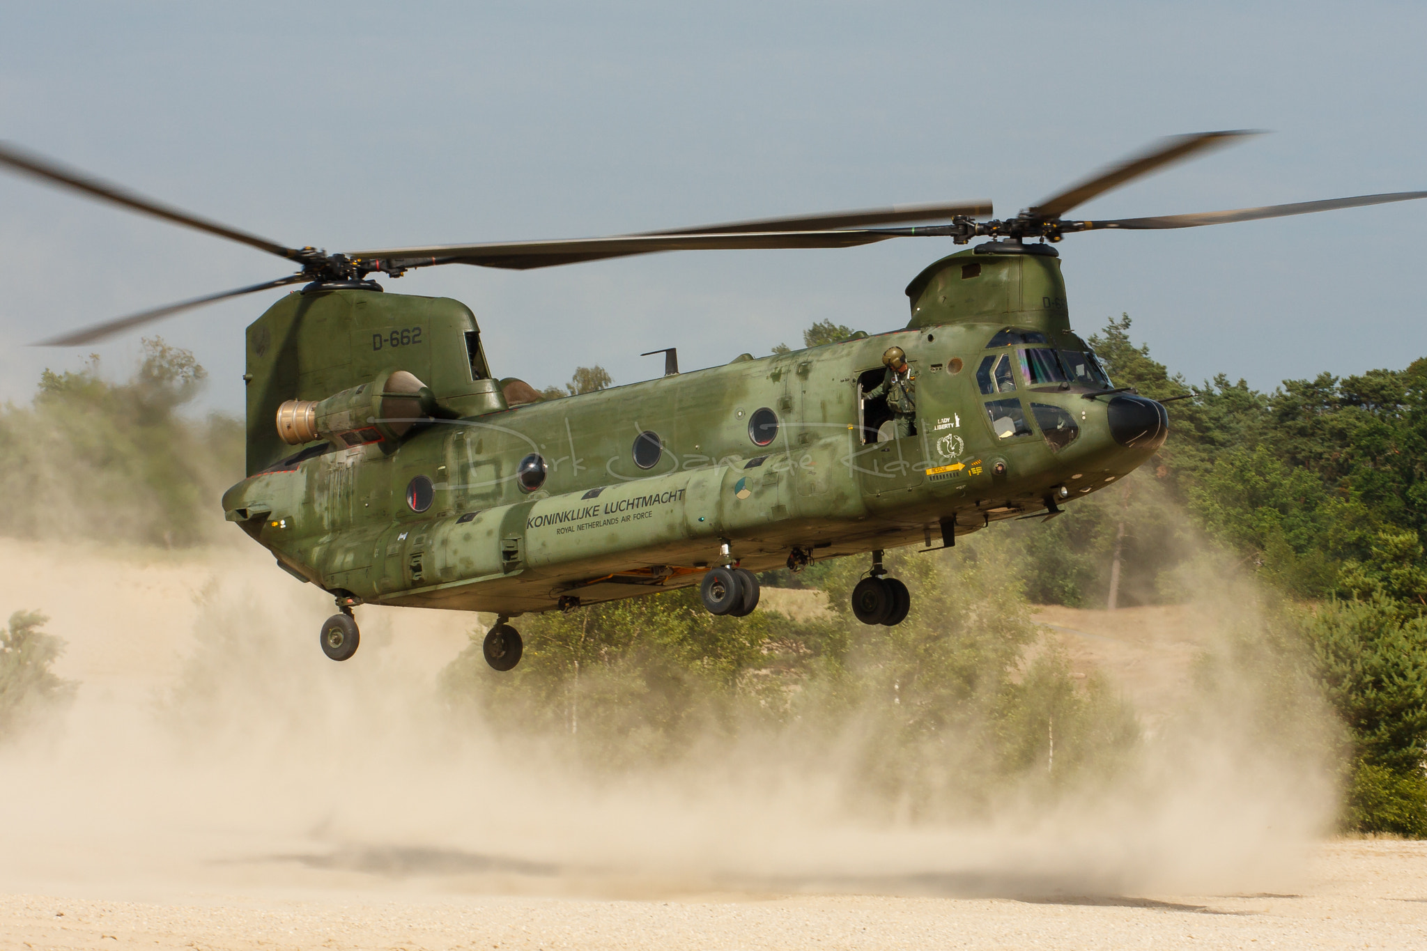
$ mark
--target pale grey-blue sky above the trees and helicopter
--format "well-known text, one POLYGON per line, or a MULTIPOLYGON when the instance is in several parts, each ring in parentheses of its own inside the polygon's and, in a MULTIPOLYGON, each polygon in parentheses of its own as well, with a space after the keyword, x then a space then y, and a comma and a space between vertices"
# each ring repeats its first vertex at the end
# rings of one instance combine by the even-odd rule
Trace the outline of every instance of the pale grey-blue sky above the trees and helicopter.
MULTIPOLYGON (((1427 188, 1427 6, 1324 3, 0 3, 0 138, 285 244, 578 237, 992 198, 999 214, 1164 134, 1269 128, 1097 198, 1130 217, 1427 188)), ((1070 235, 1072 317, 1273 386, 1427 355, 1427 202, 1070 235)), ((948 240, 434 268, 494 369, 619 382, 906 322, 948 240)), ((277 258, 0 177, 0 398, 84 351, 23 344, 280 277, 277 258)), ((254 295, 156 325, 241 408, 254 295)), ((97 348, 116 371, 130 334, 97 348)))

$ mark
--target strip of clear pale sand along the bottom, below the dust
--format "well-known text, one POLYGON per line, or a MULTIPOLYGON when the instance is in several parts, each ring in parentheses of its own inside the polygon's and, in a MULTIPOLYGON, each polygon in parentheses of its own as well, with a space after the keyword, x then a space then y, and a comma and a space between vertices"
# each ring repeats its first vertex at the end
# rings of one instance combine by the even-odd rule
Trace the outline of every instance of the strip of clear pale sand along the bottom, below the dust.
MULTIPOLYGON (((514 883, 508 883, 514 884, 514 883)), ((1427 845, 1324 845, 1299 894, 960 898, 471 894, 459 875, 328 873, 148 901, 0 897, 7 948, 1421 948, 1427 845)), ((926 891, 936 888, 928 883, 926 891)))

